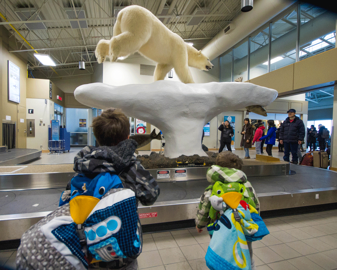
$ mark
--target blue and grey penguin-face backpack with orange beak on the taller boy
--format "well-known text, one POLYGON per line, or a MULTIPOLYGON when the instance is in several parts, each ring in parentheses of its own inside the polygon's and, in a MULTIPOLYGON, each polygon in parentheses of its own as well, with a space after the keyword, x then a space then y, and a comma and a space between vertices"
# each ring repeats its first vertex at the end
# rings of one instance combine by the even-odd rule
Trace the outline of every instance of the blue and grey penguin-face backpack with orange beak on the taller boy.
POLYGON ((89 179, 79 174, 71 180, 70 200, 62 198, 60 207, 22 236, 18 269, 84 270, 90 263, 141 253, 135 193, 123 188, 118 175, 105 172, 89 179))

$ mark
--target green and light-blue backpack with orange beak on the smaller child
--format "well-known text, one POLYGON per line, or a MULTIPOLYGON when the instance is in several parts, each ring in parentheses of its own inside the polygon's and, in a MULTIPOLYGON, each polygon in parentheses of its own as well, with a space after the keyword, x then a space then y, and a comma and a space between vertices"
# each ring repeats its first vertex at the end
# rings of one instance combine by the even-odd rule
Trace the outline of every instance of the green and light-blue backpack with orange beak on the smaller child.
POLYGON ((245 235, 252 235, 258 231, 258 225, 250 215, 258 212, 241 200, 245 190, 246 187, 237 182, 217 181, 213 186, 210 215, 213 216, 218 211, 220 218, 207 226, 212 239, 205 260, 211 270, 251 269, 245 235))

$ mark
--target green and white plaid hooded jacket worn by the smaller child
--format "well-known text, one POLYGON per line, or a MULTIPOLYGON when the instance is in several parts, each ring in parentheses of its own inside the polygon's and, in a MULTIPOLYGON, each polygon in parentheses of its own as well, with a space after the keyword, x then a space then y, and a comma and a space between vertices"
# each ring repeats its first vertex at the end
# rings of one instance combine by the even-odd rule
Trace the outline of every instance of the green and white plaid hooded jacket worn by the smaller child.
POLYGON ((212 165, 207 170, 206 178, 208 182, 212 183, 212 185, 206 188, 204 194, 200 197, 200 203, 195 218, 195 224, 198 228, 201 229, 213 222, 209 216, 209 211, 211 208, 211 202, 209 198, 212 194, 212 188, 216 181, 221 181, 222 183, 242 183, 246 187, 247 191, 243 195, 243 200, 246 202, 251 202, 251 200, 254 201, 255 209, 259 212, 260 202, 257 198, 257 194, 250 182, 247 181, 247 176, 243 171, 234 168, 225 168, 218 165, 212 165))

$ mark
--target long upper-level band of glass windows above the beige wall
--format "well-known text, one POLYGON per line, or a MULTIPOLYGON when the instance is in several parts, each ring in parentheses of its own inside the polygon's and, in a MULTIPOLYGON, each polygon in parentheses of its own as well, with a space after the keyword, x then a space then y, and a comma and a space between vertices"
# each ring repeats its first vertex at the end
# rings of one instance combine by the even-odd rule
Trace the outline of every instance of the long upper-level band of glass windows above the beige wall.
POLYGON ((220 82, 240 76, 246 81, 335 48, 336 19, 335 13, 308 3, 290 8, 220 57, 220 82))

